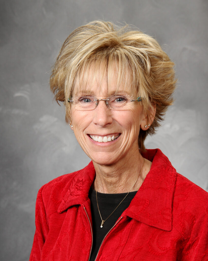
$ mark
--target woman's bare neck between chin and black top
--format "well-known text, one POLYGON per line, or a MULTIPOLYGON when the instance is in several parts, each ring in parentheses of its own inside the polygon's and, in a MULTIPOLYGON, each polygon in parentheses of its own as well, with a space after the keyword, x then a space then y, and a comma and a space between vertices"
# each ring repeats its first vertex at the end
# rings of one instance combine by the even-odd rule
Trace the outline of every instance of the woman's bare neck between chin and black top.
POLYGON ((93 188, 97 192, 112 194, 137 191, 151 167, 151 162, 146 159, 144 161, 139 150, 133 158, 128 157, 127 154, 124 159, 115 164, 99 165, 95 162, 93 164, 96 172, 93 188))

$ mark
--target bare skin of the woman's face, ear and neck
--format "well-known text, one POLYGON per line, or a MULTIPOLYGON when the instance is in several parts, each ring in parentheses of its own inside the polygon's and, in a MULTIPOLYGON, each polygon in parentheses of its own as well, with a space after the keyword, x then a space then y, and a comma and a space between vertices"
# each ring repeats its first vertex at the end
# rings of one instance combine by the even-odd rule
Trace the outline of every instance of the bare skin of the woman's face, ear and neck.
MULTIPOLYGON (((107 82, 101 86, 94 81, 90 83, 90 91, 95 97, 105 99, 109 97, 107 82)), ((128 89, 119 89, 127 94, 128 89)), ((112 93, 116 90, 116 79, 111 84, 112 93)), ((136 93, 132 94, 136 97, 136 93)), ((141 103, 132 102, 128 110, 111 110, 104 101, 100 101, 94 110, 79 111, 72 106, 71 119, 73 131, 83 151, 92 159, 96 171, 96 178, 92 187, 101 193, 125 193, 137 191, 151 168, 151 162, 141 156, 138 146, 140 128, 151 124, 155 110, 147 122, 147 116, 142 110, 141 103), (89 135, 106 136, 120 134, 113 141, 99 143, 89 135), (142 168, 142 165, 144 166, 142 168), (141 171, 142 168, 142 171, 141 171), (139 175, 141 171, 141 174, 139 175)))

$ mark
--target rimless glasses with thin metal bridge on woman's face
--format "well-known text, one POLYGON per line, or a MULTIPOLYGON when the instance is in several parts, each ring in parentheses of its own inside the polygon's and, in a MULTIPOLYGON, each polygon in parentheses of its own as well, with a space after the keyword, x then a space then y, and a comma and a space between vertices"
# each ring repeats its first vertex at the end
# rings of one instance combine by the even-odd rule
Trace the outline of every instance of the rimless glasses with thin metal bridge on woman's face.
POLYGON ((106 99, 97 99, 94 96, 76 96, 68 99, 68 102, 72 103, 74 109, 80 111, 94 110, 101 100, 103 100, 111 110, 128 110, 131 102, 140 102, 141 99, 141 97, 129 99, 126 96, 112 96, 106 99))

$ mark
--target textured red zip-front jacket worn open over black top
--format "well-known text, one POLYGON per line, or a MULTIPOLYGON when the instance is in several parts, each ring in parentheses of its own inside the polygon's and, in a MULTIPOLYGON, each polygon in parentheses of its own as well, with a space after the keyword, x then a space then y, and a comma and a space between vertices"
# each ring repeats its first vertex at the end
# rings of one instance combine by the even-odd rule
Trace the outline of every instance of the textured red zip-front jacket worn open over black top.
MULTIPOLYGON (((208 193, 176 173, 159 149, 129 207, 105 236, 96 260, 208 260, 208 193)), ((93 163, 44 185, 37 195, 30 261, 87 261, 93 232, 88 192, 93 163)))

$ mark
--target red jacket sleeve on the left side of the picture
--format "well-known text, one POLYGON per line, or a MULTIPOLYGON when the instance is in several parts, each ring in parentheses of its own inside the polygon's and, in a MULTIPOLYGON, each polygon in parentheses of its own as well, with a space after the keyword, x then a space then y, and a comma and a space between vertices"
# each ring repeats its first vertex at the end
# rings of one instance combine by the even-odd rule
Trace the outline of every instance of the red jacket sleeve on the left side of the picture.
POLYGON ((40 261, 41 252, 48 235, 49 227, 46 218, 46 211, 42 198, 42 190, 44 186, 38 191, 36 207, 35 207, 35 235, 33 240, 33 247, 30 254, 29 261, 40 261))

